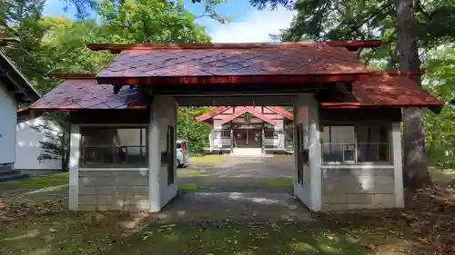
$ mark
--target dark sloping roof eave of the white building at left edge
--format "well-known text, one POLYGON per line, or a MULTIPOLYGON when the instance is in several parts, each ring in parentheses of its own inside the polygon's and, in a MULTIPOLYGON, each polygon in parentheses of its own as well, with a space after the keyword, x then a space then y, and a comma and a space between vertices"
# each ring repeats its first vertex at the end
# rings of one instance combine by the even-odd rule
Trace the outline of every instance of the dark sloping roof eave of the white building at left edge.
POLYGON ((28 81, 13 61, 1 50, 0 79, 8 87, 8 90, 15 93, 15 100, 18 103, 32 103, 41 97, 41 94, 34 88, 32 83, 28 81))

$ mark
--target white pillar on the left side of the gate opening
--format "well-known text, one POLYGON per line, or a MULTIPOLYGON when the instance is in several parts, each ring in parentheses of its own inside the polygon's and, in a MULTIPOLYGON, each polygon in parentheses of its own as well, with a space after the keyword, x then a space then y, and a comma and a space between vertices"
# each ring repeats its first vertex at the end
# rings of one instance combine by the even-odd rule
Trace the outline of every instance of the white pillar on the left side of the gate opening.
POLYGON ((148 125, 148 211, 161 210, 159 194, 159 172, 161 169, 161 146, 159 126, 159 105, 157 98, 151 104, 148 125))

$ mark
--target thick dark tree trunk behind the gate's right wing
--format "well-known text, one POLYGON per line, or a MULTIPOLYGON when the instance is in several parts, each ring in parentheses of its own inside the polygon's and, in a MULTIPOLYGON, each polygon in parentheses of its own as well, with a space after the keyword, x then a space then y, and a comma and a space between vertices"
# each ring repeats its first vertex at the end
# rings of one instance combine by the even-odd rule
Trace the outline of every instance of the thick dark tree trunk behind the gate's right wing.
MULTIPOLYGON (((413 0, 395 0, 395 6, 397 9, 399 69, 418 71, 420 70, 420 58, 417 36, 415 36, 418 23, 414 16, 413 0)), ((410 78, 420 84, 420 75, 413 75, 410 78)), ((422 114, 422 110, 419 108, 403 109, 403 181, 408 194, 431 184, 425 156, 425 134, 420 121, 422 114)))

